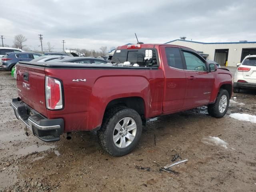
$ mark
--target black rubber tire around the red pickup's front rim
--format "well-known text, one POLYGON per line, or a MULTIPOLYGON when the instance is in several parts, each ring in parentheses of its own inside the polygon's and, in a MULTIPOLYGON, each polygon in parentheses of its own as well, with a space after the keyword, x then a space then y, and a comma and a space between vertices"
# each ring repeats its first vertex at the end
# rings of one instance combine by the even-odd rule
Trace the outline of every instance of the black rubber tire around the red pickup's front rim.
POLYGON ((225 89, 221 89, 221 90, 219 91, 219 93, 218 93, 218 96, 217 96, 217 98, 216 98, 215 103, 208 105, 208 107, 207 107, 208 114, 209 114, 210 116, 217 117, 217 118, 223 117, 223 116, 226 114, 227 110, 228 110, 229 99, 230 99, 230 97, 229 97, 228 91, 225 90, 225 89), (219 111, 219 104, 220 104, 220 98, 221 98, 223 95, 226 95, 226 97, 227 97, 227 106, 226 106, 226 109, 224 110, 224 112, 221 113, 221 112, 219 111))

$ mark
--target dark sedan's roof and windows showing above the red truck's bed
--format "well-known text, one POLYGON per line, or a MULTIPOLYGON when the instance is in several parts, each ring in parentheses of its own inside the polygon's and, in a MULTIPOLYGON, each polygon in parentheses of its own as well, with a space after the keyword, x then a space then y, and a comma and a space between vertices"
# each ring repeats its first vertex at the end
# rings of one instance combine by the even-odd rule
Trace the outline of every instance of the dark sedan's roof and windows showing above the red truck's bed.
POLYGON ((106 64, 108 61, 101 58, 94 57, 61 57, 56 58, 54 60, 50 60, 50 62, 58 62, 58 63, 84 63, 84 64, 106 64))

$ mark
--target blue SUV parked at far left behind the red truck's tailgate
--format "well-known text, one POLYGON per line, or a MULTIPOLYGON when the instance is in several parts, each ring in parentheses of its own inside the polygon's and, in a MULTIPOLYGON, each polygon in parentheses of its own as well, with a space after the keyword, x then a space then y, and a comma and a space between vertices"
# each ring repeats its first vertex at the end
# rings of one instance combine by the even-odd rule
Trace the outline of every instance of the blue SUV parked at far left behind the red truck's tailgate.
POLYGON ((40 57, 41 55, 38 53, 30 53, 30 52, 12 52, 6 53, 6 55, 2 58, 2 69, 12 71, 12 68, 19 61, 31 61, 34 58, 40 57))

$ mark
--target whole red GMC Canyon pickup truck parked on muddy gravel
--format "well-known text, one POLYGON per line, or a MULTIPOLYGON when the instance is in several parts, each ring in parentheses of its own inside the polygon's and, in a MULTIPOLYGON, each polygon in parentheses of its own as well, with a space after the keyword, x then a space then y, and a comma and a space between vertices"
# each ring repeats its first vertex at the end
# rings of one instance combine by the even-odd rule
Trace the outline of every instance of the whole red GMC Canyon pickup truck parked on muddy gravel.
POLYGON ((97 130, 113 156, 133 150, 148 118, 199 106, 224 116, 233 90, 228 70, 168 44, 119 46, 107 64, 19 62, 16 73, 12 107, 35 136, 97 130))

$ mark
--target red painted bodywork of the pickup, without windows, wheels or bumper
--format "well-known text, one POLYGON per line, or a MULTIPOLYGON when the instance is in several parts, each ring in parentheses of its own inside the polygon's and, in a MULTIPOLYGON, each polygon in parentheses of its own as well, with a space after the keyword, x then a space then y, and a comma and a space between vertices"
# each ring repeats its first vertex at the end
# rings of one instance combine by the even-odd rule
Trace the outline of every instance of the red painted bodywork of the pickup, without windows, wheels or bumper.
MULTIPOLYGON (((142 44, 156 48, 158 69, 125 68, 44 68, 17 64, 17 88, 22 101, 49 119, 63 118, 64 131, 93 130, 101 126, 106 106, 112 100, 140 97, 144 100, 144 117, 171 114, 213 103, 223 84, 232 85, 226 70, 194 72, 168 66, 165 47, 173 45, 142 44), (29 73, 30 90, 22 87, 23 73, 29 73), (62 81, 64 108, 47 110, 45 106, 45 76, 62 81), (194 76, 194 80, 188 77, 194 76), (86 82, 73 82, 86 79, 86 82), (204 94, 210 92, 210 94, 204 94)), ((117 49, 126 49, 119 46, 117 49)))

